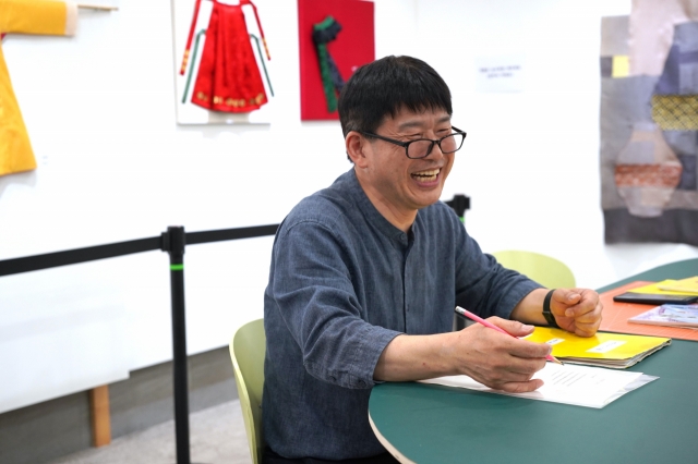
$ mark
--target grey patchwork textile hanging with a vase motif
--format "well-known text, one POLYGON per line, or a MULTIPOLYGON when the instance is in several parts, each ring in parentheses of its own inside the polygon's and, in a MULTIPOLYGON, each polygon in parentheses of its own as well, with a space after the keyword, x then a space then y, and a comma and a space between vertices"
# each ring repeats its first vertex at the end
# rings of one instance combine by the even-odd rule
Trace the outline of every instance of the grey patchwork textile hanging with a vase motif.
POLYGON ((698 0, 601 23, 605 242, 698 245, 698 0))

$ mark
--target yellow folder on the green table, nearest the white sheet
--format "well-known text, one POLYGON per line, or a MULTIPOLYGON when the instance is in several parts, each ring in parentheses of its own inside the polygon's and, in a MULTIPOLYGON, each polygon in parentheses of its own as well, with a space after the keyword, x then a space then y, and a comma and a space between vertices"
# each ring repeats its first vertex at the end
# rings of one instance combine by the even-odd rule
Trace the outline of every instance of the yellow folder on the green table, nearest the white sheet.
POLYGON ((553 356, 563 363, 614 369, 634 366, 672 342, 672 339, 663 337, 610 332, 597 332, 594 337, 587 338, 550 327, 537 327, 533 333, 525 339, 553 345, 553 356))

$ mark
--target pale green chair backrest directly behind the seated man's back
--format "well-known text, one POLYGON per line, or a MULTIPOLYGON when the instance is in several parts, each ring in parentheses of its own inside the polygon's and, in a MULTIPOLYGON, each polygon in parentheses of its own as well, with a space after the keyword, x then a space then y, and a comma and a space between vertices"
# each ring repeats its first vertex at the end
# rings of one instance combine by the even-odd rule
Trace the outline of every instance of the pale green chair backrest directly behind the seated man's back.
POLYGON ((262 462, 262 389, 266 335, 264 319, 240 327, 230 341, 230 357, 253 464, 262 462))

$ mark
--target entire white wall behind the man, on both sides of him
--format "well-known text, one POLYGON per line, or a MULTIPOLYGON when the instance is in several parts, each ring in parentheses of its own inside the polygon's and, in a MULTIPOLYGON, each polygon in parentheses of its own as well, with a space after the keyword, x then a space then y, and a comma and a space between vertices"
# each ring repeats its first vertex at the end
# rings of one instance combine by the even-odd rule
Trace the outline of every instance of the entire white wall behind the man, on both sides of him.
MULTIPOLYGON (((178 126, 164 1, 81 11, 74 38, 10 36, 3 51, 39 161, 0 178, 0 259, 188 231, 279 222, 349 168, 337 122, 300 122, 297 7, 256 0, 276 119, 178 126)), ((444 193, 472 197, 485 251, 527 248, 600 286, 698 256, 686 245, 603 244, 599 17, 629 1, 376 0, 376 56, 416 54, 454 93, 466 147, 444 193), (526 53, 521 94, 477 94, 473 60, 526 53)), ((189 352, 262 315, 272 239, 186 248, 189 352)), ((115 381, 171 358, 160 252, 0 278, 0 412, 115 381)))

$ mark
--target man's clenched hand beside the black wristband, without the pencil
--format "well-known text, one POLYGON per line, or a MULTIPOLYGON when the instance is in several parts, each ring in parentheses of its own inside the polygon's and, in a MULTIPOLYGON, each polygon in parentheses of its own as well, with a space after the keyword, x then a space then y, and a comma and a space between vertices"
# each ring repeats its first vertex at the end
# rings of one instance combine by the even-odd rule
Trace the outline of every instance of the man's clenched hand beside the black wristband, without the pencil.
POLYGON ((601 325, 603 305, 593 290, 556 289, 550 300, 550 309, 562 329, 580 337, 592 337, 601 325))

